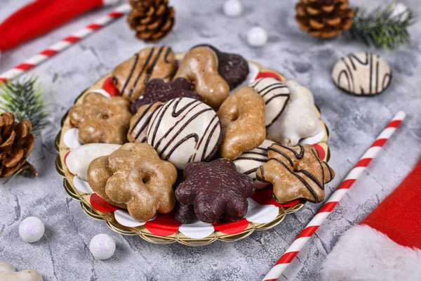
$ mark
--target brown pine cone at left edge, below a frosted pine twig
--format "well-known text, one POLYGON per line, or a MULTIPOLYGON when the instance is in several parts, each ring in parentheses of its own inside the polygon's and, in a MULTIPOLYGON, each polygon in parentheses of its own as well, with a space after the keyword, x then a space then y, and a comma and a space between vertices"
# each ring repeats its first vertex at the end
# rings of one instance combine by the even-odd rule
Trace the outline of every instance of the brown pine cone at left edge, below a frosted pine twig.
POLYGON ((0 178, 10 176, 25 164, 34 147, 32 124, 28 120, 15 122, 10 112, 0 115, 0 178))

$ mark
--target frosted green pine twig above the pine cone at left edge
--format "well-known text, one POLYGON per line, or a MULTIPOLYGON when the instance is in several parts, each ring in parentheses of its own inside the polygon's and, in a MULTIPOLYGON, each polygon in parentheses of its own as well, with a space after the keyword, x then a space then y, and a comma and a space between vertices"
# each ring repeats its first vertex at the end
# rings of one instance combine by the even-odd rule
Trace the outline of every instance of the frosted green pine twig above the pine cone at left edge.
POLYGON ((13 112, 19 121, 29 120, 32 133, 38 135, 48 124, 43 90, 36 77, 0 84, 0 112, 13 112))

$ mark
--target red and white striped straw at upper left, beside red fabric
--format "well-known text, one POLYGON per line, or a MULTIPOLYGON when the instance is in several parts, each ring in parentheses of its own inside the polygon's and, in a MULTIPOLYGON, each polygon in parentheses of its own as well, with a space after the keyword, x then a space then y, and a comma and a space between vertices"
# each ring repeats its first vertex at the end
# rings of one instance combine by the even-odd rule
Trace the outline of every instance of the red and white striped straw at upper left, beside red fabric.
POLYGON ((64 51, 65 49, 69 48, 69 46, 72 46, 73 44, 79 42, 81 39, 86 38, 89 35, 93 34, 100 28, 109 24, 109 22, 112 22, 116 20, 117 18, 120 18, 122 15, 128 13, 130 10, 131 10, 131 6, 128 3, 117 7, 114 11, 111 11, 107 15, 104 15, 101 18, 98 18, 98 20, 95 20, 95 22, 92 22, 90 25, 86 25, 86 27, 83 27, 81 30, 76 31, 74 34, 70 35, 69 37, 66 37, 65 39, 62 39, 61 41, 58 41, 57 43, 53 44, 49 48, 46 48, 46 50, 42 51, 41 53, 38 53, 37 55, 34 55, 32 58, 25 60, 25 62, 21 63, 20 65, 16 65, 11 70, 8 70, 4 72, 3 74, 0 74, 0 81, 6 81, 7 79, 9 80, 15 79, 16 77, 27 72, 28 70, 31 70, 36 65, 40 65, 41 63, 44 63, 44 61, 48 60, 53 55, 60 53, 61 51, 64 51))

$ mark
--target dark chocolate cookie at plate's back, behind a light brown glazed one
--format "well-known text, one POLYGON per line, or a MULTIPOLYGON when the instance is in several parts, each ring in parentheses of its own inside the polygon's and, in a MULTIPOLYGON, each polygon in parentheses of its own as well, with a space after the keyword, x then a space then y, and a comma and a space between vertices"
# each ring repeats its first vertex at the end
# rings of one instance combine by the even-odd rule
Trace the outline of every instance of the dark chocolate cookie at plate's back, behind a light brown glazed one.
POLYGON ((227 81, 229 89, 236 88, 236 86, 239 86, 246 80, 249 72, 248 63, 241 55, 224 53, 208 44, 194 46, 193 48, 200 46, 211 48, 216 53, 218 56, 218 73, 227 81))

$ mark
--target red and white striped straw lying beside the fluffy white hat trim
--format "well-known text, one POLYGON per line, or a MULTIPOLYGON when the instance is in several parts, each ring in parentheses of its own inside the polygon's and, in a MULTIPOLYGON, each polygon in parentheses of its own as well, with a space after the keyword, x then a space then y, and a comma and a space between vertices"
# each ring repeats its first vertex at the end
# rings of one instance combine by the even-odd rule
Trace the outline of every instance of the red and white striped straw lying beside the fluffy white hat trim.
POLYGON ((317 228, 323 223, 323 221, 328 217, 333 208, 340 202, 342 197, 345 196, 349 188, 352 187, 354 182, 361 176, 363 171, 366 169, 371 160, 377 155, 386 141, 392 136, 396 128, 401 124, 403 119, 405 119, 405 112, 398 112, 391 122, 386 126, 386 128, 380 133, 380 135, 375 139, 373 145, 364 153, 363 157, 359 162, 354 166, 354 168, 347 174, 345 180, 339 185, 339 187, 330 195, 329 199, 323 204, 323 207, 319 209, 316 216, 307 224, 302 233, 295 238, 293 244, 290 244, 290 247, 286 249, 285 254, 281 256, 278 262, 275 263, 274 267, 267 273, 263 278, 264 281, 274 281, 281 276, 283 270, 287 268, 291 261, 297 256, 298 252, 304 247, 305 243, 312 237, 316 232, 317 228))

